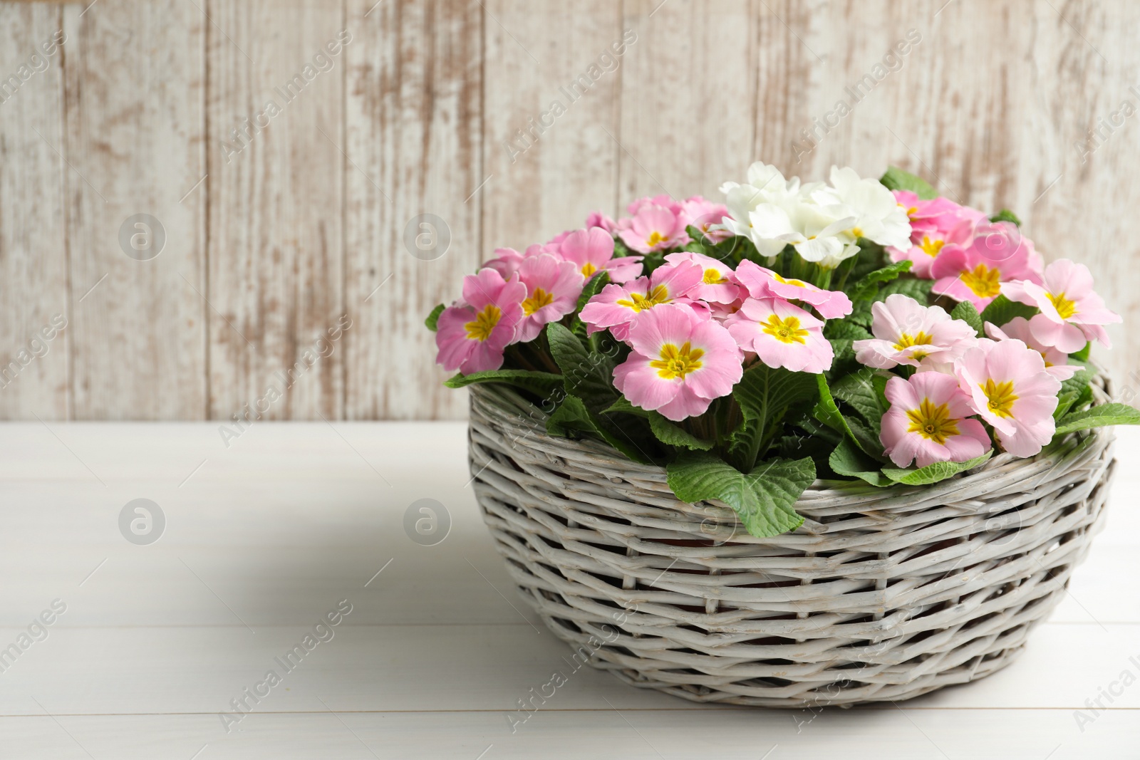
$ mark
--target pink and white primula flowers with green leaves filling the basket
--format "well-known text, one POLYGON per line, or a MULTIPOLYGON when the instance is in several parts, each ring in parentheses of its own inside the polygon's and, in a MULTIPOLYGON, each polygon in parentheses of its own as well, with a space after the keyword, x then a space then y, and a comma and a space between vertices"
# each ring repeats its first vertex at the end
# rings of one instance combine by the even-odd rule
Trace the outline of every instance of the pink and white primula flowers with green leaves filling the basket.
POLYGON ((549 435, 662 465, 762 537, 803 523, 816 479, 923 485, 1140 423, 1093 404, 1090 344, 1119 317, 1011 212, 898 169, 801 185, 756 163, 720 189, 498 248, 426 320, 447 385, 512 385, 553 409, 549 435))

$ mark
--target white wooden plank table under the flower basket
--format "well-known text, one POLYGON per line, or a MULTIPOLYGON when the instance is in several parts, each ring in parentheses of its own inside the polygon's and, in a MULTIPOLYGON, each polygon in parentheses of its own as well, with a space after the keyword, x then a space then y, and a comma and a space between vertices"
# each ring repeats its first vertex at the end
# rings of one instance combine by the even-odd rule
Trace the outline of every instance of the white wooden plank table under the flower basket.
POLYGON ((255 423, 226 448, 207 424, 5 424, 0 757, 1140 758, 1140 435, 1119 435, 1107 529, 986 680, 812 713, 701 706, 584 668, 512 732, 568 649, 494 551, 464 425, 255 423), (138 498, 165 517, 149 545, 120 531, 138 498), (422 498, 451 518, 434 546, 405 532, 422 498), (351 612, 306 649, 339 604, 351 612))

